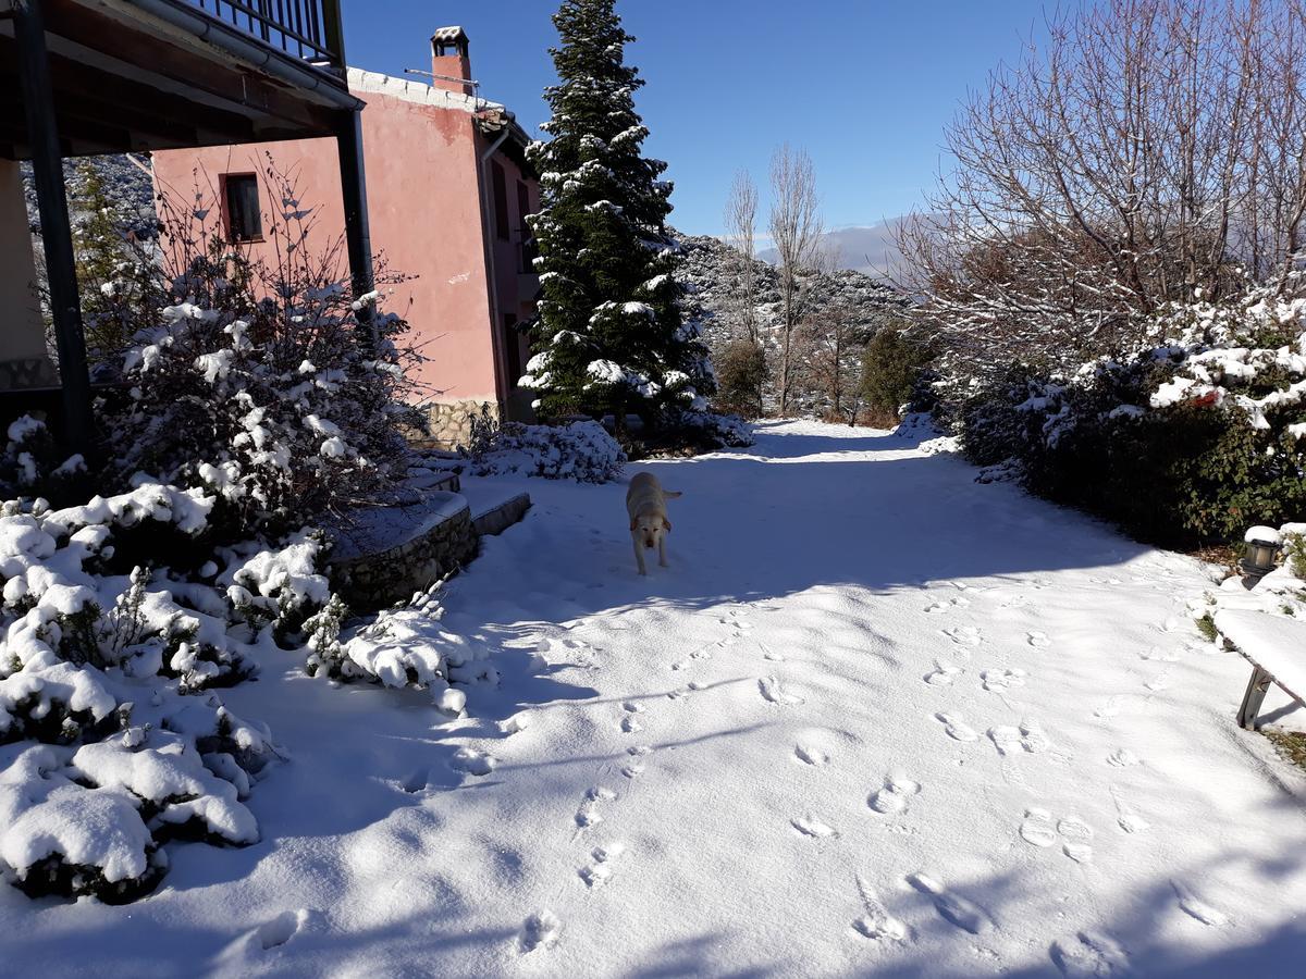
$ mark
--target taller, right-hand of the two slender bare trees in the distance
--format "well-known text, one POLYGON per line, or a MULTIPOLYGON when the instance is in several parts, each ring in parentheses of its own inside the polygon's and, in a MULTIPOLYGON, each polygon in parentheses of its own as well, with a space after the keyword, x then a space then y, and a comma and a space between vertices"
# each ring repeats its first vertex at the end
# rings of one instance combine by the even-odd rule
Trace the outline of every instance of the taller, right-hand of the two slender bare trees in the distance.
POLYGON ((798 325, 798 273, 810 266, 821 238, 812 161, 804 150, 788 142, 771 158, 771 238, 780 256, 780 298, 782 322, 780 362, 780 414, 789 414, 793 380, 793 337, 798 325))

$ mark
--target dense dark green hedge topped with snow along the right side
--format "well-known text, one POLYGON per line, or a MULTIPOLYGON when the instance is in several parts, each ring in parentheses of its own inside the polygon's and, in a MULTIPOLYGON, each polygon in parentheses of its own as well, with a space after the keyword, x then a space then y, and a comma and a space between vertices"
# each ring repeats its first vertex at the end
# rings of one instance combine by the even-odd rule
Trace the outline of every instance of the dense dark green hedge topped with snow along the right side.
POLYGON ((964 450, 1164 543, 1306 518, 1306 299, 1199 298, 1147 333, 1147 349, 1070 376, 1016 365, 946 392, 964 450))

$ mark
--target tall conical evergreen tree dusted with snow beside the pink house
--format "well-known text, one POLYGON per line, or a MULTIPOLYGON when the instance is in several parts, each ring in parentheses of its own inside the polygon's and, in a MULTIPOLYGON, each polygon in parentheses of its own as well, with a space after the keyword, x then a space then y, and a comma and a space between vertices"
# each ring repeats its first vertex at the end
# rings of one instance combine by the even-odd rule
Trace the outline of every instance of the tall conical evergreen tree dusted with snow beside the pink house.
POLYGON ((530 218, 543 298, 522 386, 546 418, 627 412, 657 424, 701 410, 714 388, 696 321, 682 315, 680 247, 669 235, 666 164, 643 155, 635 111, 644 84, 624 61, 633 38, 615 0, 563 0, 545 91, 547 142, 530 150, 541 213, 530 218))

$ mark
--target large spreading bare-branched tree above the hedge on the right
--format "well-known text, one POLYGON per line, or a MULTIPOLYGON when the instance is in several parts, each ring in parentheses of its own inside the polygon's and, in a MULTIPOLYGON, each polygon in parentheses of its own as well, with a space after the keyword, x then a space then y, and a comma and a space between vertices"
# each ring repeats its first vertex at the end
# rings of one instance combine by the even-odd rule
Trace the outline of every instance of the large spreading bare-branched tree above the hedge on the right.
POLYGON ((899 245, 972 375, 1145 342, 1148 317, 1302 257, 1303 0, 1106 0, 1049 23, 947 132, 899 245))

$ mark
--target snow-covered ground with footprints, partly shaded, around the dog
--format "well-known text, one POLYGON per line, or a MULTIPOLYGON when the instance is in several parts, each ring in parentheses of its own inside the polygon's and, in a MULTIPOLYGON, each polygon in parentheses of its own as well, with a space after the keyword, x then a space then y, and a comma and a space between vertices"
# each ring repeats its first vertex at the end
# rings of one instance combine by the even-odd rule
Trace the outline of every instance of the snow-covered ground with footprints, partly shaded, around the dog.
POLYGON ((522 480, 430 697, 264 663, 263 842, 127 907, 0 890, 0 974, 1299 975, 1299 777, 1235 728, 1209 572, 889 433, 807 423, 623 484, 522 480))

